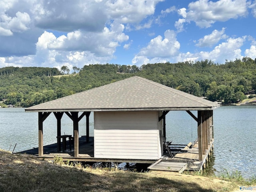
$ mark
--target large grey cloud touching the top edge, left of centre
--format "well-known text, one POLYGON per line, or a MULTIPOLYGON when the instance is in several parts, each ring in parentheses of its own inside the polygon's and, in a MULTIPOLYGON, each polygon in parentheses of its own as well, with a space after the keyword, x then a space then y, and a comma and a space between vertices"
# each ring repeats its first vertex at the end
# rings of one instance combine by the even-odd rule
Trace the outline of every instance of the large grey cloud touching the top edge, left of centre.
POLYGON ((104 2, 94 0, 38 0, 31 11, 37 27, 66 32, 100 31, 108 19, 104 2))

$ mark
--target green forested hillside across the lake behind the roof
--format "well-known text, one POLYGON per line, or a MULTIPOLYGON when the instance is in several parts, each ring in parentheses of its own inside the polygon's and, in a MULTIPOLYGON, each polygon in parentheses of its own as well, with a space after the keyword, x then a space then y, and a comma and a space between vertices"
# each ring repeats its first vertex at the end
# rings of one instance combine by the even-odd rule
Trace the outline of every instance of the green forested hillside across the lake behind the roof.
MULTIPOLYGON (((64 69, 69 72, 66 67, 64 69)), ((225 103, 243 100, 246 92, 256 89, 255 60, 247 57, 225 64, 204 60, 147 64, 140 68, 96 64, 75 69, 78 73, 59 76, 64 71, 57 68, 0 68, 0 101, 3 101, 0 105, 28 107, 134 75, 225 103)))

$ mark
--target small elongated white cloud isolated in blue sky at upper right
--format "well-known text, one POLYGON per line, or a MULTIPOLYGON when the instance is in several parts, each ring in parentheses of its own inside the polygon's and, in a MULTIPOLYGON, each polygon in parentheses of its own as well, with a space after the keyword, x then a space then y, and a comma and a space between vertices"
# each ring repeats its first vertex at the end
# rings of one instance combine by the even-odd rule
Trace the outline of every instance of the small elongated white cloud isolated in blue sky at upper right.
POLYGON ((222 28, 221 31, 214 30, 210 35, 204 36, 198 40, 196 46, 198 47, 211 47, 214 44, 218 43, 221 39, 226 39, 228 36, 225 33, 225 28, 222 28))

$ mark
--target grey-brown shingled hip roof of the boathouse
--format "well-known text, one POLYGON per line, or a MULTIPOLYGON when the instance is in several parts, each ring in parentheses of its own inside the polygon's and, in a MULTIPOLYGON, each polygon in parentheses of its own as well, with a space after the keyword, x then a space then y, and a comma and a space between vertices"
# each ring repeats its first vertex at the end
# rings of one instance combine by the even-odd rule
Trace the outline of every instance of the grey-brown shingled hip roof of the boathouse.
POLYGON ((219 104, 134 76, 38 104, 26 111, 212 110, 219 104))

